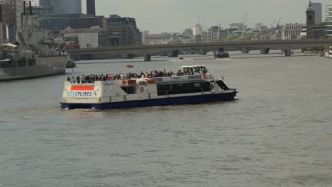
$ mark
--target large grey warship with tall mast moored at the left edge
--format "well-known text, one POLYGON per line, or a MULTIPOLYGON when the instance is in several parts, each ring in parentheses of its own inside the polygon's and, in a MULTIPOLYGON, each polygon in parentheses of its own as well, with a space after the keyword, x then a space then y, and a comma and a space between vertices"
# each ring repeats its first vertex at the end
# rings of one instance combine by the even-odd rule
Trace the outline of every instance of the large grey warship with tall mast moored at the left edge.
POLYGON ((22 29, 17 35, 20 42, 0 46, 0 81, 64 74, 69 55, 40 29, 31 1, 24 1, 24 10, 22 29))

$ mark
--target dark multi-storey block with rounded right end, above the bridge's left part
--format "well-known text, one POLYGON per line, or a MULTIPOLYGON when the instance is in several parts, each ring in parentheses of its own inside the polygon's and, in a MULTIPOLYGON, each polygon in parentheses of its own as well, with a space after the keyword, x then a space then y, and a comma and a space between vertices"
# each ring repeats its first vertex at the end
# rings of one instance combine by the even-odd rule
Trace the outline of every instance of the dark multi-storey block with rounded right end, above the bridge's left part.
POLYGON ((135 18, 110 15, 107 18, 107 25, 118 45, 142 45, 142 33, 136 26, 135 18))

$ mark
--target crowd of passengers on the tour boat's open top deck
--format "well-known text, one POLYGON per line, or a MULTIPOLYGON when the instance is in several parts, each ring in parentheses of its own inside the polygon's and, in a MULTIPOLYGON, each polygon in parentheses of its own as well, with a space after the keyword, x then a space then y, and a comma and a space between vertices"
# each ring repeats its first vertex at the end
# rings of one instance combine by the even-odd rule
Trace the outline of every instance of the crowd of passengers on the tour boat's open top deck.
POLYGON ((185 76, 185 75, 192 75, 193 72, 182 72, 182 70, 178 70, 177 73, 175 72, 166 72, 164 69, 163 71, 153 70, 152 72, 140 74, 137 73, 128 73, 128 74, 89 74, 89 75, 82 75, 77 77, 67 77, 67 81, 70 81, 73 84, 89 84, 94 83, 95 81, 111 81, 111 80, 125 80, 125 79, 141 79, 141 78, 157 78, 157 77, 177 77, 177 76, 185 76))

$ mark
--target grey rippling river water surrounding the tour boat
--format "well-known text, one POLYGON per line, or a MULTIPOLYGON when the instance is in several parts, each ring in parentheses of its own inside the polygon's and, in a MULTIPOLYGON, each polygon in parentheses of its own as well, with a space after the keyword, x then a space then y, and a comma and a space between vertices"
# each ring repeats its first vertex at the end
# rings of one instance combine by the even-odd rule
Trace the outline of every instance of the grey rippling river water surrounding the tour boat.
POLYGON ((332 186, 332 60, 232 57, 82 61, 1 82, 0 186, 332 186), (192 64, 224 74, 236 101, 60 110, 67 76, 192 64))

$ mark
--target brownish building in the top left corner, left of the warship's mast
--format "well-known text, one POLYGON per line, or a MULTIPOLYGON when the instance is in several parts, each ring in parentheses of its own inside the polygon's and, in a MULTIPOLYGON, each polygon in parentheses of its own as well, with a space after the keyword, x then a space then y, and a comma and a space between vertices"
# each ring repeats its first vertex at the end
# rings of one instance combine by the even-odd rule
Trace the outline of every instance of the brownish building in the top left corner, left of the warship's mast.
POLYGON ((13 42, 16 33, 21 30, 23 0, 6 1, 0 4, 0 42, 13 42))

